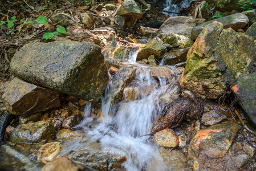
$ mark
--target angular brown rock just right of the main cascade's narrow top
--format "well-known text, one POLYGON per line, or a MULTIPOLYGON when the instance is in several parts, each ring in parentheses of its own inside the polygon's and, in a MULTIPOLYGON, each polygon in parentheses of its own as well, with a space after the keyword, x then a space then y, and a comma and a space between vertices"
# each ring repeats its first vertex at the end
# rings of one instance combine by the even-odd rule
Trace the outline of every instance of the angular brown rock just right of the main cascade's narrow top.
POLYGON ((156 59, 160 59, 166 51, 167 48, 163 45, 162 41, 154 38, 138 52, 137 60, 148 59, 150 55, 154 55, 156 59))

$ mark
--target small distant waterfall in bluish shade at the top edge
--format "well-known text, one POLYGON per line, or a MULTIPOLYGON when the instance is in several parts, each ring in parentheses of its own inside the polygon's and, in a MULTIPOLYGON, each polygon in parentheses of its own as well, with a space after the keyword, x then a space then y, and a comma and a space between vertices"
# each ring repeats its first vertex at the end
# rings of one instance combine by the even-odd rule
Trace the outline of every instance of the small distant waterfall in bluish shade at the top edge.
POLYGON ((185 1, 180 1, 180 0, 162 0, 160 2, 160 9, 163 11, 169 11, 173 13, 166 13, 163 12, 165 15, 169 15, 170 17, 177 16, 178 14, 174 13, 179 13, 181 9, 187 8, 190 5, 190 2, 193 0, 185 0, 185 1))

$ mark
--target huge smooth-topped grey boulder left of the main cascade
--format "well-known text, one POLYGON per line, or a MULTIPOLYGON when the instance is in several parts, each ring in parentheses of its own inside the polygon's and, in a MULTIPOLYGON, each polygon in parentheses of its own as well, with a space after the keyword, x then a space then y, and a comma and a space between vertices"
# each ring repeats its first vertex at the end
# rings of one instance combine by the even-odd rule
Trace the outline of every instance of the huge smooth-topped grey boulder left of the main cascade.
POLYGON ((27 82, 88 101, 99 100, 108 83, 99 46, 72 41, 26 44, 10 64, 27 82))

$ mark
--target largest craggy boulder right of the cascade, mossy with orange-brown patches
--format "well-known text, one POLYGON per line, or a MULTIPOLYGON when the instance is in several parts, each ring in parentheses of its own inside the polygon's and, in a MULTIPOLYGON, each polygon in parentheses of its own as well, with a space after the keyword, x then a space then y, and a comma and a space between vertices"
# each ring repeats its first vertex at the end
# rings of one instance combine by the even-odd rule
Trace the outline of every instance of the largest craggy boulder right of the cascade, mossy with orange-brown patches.
POLYGON ((231 28, 224 30, 221 23, 214 21, 204 28, 188 52, 181 89, 217 99, 226 91, 226 82, 247 74, 255 60, 253 39, 231 28))

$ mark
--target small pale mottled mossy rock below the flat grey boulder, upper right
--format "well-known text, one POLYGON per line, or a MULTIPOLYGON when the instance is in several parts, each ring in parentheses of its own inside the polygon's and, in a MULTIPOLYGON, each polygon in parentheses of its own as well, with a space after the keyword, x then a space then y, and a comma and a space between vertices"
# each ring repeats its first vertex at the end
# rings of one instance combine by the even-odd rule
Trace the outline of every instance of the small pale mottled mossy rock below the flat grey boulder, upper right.
POLYGON ((162 42, 172 45, 174 48, 187 48, 193 45, 193 41, 184 35, 177 35, 172 32, 162 35, 162 42))

